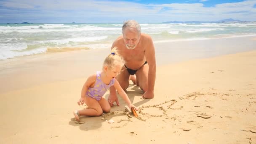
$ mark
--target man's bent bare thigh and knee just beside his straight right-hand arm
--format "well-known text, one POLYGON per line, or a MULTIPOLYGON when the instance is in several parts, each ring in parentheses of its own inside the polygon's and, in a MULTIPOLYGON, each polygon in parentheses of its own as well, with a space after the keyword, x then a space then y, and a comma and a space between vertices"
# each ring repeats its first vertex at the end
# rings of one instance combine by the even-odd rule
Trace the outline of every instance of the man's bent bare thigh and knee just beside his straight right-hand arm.
POLYGON ((148 80, 149 80, 148 75, 149 75, 149 65, 148 64, 144 64, 136 72, 137 85, 139 85, 139 87, 143 91, 147 91, 147 88, 148 88, 148 80))

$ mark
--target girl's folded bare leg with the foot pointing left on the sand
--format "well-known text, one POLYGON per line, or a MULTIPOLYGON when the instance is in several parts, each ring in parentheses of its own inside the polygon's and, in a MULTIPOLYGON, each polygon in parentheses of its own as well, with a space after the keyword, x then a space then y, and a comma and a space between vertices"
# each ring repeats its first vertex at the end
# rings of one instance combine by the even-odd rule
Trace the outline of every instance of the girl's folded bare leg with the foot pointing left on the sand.
POLYGON ((101 109, 101 105, 99 104, 99 101, 97 101, 96 99, 85 96, 85 104, 87 105, 88 108, 81 109, 78 112, 74 111, 75 119, 77 121, 80 121, 80 118, 79 118, 80 115, 86 115, 86 116, 102 115, 103 111, 101 109))

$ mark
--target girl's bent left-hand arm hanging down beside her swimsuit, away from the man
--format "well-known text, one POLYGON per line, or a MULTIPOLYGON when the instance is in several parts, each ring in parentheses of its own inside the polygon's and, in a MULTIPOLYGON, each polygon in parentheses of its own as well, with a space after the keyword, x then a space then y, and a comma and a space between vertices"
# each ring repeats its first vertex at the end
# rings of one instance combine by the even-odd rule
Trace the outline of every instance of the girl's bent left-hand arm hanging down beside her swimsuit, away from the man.
POLYGON ((87 78, 87 80, 83 84, 83 88, 82 88, 82 91, 81 91, 81 98, 80 98, 79 101, 77 101, 78 105, 80 105, 80 104, 83 105, 84 104, 84 98, 85 98, 86 91, 88 90, 88 88, 91 87, 91 85, 93 85, 95 83, 96 77, 97 77, 96 74, 91 75, 90 77, 87 78))

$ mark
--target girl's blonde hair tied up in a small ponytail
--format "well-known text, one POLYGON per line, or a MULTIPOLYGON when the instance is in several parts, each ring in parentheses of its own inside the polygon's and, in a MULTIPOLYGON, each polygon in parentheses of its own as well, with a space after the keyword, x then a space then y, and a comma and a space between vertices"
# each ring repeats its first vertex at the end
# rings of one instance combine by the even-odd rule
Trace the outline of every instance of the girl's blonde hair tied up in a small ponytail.
POLYGON ((111 53, 106 57, 103 63, 103 67, 107 66, 110 69, 114 69, 116 66, 124 66, 125 61, 119 56, 117 47, 111 49, 111 53))

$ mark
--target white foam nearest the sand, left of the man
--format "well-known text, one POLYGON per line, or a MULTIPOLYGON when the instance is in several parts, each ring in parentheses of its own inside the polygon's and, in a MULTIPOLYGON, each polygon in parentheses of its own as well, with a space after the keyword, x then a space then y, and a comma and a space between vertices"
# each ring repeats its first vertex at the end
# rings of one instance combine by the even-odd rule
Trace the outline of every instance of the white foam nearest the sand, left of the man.
MULTIPOLYGON (((69 48, 69 51, 71 51, 72 48, 75 50, 80 50, 80 47, 82 48, 107 48, 111 47, 109 44, 83 44, 79 46, 72 46, 70 43, 86 43, 86 42, 93 42, 97 40, 104 40, 106 39, 107 36, 102 36, 102 37, 77 37, 77 38, 68 38, 68 39, 63 39, 63 40, 42 40, 42 41, 37 41, 34 43, 0 43, 0 59, 10 59, 14 58, 16 56, 28 56, 28 55, 33 55, 33 54, 38 54, 38 53, 46 53, 48 46, 43 46, 43 45, 56 45, 54 48, 59 48, 59 51, 66 51, 66 50, 61 50, 61 48, 69 48), (48 44, 47 44, 48 43, 48 44), (33 47, 33 45, 41 45, 39 48, 33 48, 29 49, 29 46, 33 47)), ((10 39, 12 40, 12 39, 10 39)), ((57 49, 55 52, 58 52, 57 49)))

